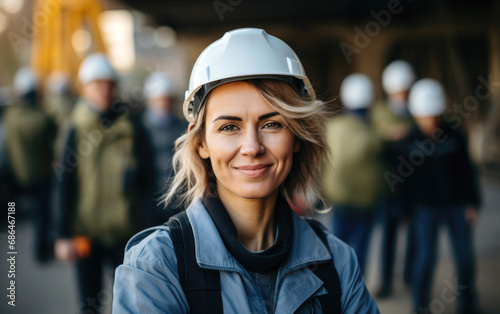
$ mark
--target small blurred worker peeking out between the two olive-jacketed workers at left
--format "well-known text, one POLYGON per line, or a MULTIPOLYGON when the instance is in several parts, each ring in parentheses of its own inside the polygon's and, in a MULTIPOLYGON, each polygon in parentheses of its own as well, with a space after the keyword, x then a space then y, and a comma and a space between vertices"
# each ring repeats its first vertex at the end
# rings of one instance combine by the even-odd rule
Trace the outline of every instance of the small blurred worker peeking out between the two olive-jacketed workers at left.
POLYGON ((44 108, 61 130, 69 120, 73 107, 77 101, 71 90, 70 77, 61 72, 53 72, 47 79, 44 108))

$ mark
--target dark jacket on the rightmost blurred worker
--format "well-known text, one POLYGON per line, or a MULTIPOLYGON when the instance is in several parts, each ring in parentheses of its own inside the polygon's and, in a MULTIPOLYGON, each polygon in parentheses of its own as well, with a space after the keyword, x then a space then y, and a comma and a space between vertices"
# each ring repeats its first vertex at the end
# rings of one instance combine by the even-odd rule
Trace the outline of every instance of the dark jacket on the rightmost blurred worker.
POLYGON ((415 126, 406 143, 403 157, 410 167, 403 184, 408 184, 413 204, 480 206, 478 178, 461 130, 442 122, 427 137, 415 126))

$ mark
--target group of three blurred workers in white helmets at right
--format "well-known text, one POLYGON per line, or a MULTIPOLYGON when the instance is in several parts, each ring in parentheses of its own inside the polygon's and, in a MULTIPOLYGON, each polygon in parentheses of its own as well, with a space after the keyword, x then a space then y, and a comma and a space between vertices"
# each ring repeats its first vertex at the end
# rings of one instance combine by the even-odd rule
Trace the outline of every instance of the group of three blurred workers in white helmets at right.
POLYGON ((340 91, 344 111, 328 123, 332 159, 321 182, 334 208, 333 232, 354 248, 364 269, 371 229, 380 218, 382 284, 376 296, 386 298, 392 293, 397 227, 407 222, 404 281, 416 312, 428 313, 438 231, 446 225, 460 287, 458 309, 474 313, 472 227, 480 196, 463 130, 443 118, 447 97, 441 83, 415 82, 406 61, 390 63, 382 85, 386 98, 375 102, 368 76, 346 77, 340 91))

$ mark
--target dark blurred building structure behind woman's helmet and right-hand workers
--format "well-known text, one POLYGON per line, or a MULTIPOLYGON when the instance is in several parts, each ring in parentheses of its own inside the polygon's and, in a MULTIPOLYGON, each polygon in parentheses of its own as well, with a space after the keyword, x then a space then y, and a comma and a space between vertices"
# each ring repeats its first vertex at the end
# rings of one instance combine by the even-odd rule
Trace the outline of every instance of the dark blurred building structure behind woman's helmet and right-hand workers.
POLYGON ((473 158, 500 173, 500 1, 120 2, 175 29, 188 65, 227 30, 264 28, 294 48, 326 98, 352 72, 369 75, 383 97, 382 69, 406 59, 418 77, 444 83, 449 119, 468 129, 473 158))

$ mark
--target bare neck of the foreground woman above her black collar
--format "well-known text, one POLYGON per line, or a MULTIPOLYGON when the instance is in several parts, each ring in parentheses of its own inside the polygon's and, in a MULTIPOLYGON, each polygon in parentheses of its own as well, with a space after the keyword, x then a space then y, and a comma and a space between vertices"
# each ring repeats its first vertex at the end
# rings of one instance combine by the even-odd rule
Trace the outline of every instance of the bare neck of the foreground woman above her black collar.
POLYGON ((238 240, 250 252, 260 252, 274 243, 277 197, 276 191, 264 199, 245 199, 219 189, 219 198, 238 231, 238 240))

